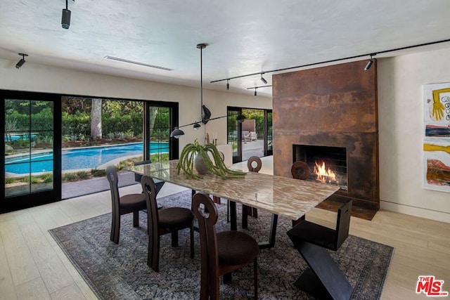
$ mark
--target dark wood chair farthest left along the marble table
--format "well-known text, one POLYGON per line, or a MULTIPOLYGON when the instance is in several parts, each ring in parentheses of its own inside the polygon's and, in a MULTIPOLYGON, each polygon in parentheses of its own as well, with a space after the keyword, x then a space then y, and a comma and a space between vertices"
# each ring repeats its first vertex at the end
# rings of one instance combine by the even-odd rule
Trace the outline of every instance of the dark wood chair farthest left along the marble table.
POLYGON ((106 167, 105 173, 108 183, 110 183, 111 204, 113 207, 110 240, 116 244, 119 244, 120 216, 122 216, 122 214, 133 213, 133 226, 139 227, 139 211, 147 209, 146 195, 129 194, 120 196, 117 171, 115 170, 115 167, 106 167))

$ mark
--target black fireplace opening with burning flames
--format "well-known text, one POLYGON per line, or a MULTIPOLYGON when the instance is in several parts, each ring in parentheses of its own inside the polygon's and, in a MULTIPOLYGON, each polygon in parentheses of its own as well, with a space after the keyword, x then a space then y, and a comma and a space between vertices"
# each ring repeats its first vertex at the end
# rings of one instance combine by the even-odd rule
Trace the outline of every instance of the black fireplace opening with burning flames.
POLYGON ((306 162, 309 181, 339 185, 347 190, 347 148, 321 145, 293 145, 293 162, 306 162))

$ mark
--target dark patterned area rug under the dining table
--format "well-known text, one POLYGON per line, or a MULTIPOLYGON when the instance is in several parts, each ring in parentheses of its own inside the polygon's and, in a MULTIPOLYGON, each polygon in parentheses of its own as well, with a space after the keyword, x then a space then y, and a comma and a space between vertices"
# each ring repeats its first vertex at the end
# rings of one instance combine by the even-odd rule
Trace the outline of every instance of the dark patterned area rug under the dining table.
MULTIPOLYGON (((190 208, 191 192, 171 195, 158 203, 190 208)), ((217 231, 229 230, 226 204, 222 202, 217 209, 217 231)), ((270 219, 270 214, 258 211, 258 219, 249 218, 245 233, 259 242, 267 240, 270 219)), ((189 256, 188 230, 180 231, 179 247, 171 247, 170 235, 163 235, 160 271, 154 272, 146 263, 146 214, 140 213, 139 228, 133 228, 131 214, 122 216, 119 244, 110 242, 110 221, 110 214, 104 214, 49 230, 99 299, 199 299, 198 233, 194 259, 189 256)), ((286 234, 290 226, 289 219, 279 217, 275 247, 259 252, 259 299, 314 299, 293 285, 307 264, 286 234)), ((379 299, 392 252, 390 246, 350 235, 338 252, 330 255, 352 285, 353 299, 379 299)), ((251 265, 233 273, 231 285, 221 282, 220 299, 251 299, 252 276, 251 265)))

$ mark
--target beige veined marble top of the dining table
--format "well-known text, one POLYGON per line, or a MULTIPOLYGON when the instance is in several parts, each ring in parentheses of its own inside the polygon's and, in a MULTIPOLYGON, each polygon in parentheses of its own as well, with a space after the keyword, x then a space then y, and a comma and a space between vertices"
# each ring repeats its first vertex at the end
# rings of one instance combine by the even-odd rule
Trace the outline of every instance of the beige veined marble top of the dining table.
POLYGON ((181 185, 192 190, 264 209, 272 214, 297 220, 333 195, 339 186, 302 181, 293 178, 248 172, 243 178, 222 179, 214 174, 202 175, 200 180, 178 174, 178 160, 142 164, 127 168, 129 171, 181 185))

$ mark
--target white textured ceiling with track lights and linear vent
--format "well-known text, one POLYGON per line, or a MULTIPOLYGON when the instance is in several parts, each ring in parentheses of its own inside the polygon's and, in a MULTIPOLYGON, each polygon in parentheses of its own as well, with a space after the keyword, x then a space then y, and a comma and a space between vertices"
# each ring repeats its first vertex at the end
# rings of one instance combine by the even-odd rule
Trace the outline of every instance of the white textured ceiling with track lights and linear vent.
MULTIPOLYGON (((226 81, 210 81, 352 56, 366 60, 370 53, 450 39, 446 0, 70 0, 68 6, 65 30, 65 0, 0 0, 0 58, 11 60, 12 69, 18 53, 27 53, 30 63, 199 86, 196 45, 206 43, 203 87, 225 91, 226 81)), ((375 58, 449 47, 445 42, 375 58)), ((272 74, 264 74, 269 85, 272 74)), ((249 87, 265 85, 259 74, 229 84, 248 94, 254 93, 249 87)), ((270 87, 257 92, 271 96, 270 87)))

